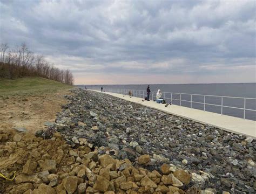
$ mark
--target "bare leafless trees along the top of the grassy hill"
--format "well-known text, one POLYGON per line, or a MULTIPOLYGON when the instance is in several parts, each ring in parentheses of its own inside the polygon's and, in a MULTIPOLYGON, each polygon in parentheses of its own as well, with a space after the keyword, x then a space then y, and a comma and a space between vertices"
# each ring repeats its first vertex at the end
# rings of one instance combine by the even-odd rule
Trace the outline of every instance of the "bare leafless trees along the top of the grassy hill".
POLYGON ((16 49, 9 49, 8 44, 3 43, 0 52, 0 78, 37 76, 73 85, 73 75, 70 70, 54 67, 44 56, 31 52, 25 43, 16 49))

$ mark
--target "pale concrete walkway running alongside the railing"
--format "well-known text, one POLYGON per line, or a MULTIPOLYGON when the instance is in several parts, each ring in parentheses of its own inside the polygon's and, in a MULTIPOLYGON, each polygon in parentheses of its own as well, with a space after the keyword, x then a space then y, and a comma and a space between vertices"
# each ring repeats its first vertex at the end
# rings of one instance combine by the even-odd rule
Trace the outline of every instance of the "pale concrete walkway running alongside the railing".
MULTIPOLYGON (((95 91, 99 92, 99 91, 95 91)), ((204 112, 204 110, 198 110, 193 108, 187 108, 183 106, 171 105, 165 107, 163 104, 156 103, 155 101, 142 101, 141 98, 130 96, 123 96, 123 94, 116 94, 110 92, 104 92, 117 98, 128 100, 130 102, 139 103, 140 105, 154 108, 165 113, 170 113, 172 115, 184 117, 186 119, 191 119, 193 121, 210 124, 212 126, 218 127, 220 129, 230 131, 236 134, 243 134, 246 136, 256 138, 256 121, 244 120, 238 117, 220 115, 217 113, 204 112)))

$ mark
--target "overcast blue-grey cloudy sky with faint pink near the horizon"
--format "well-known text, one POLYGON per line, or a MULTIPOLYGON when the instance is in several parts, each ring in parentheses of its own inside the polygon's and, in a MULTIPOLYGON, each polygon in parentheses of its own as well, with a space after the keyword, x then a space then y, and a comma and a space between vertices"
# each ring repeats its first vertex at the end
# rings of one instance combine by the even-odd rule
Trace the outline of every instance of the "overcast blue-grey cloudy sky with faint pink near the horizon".
POLYGON ((256 82, 253 0, 0 2, 0 42, 75 84, 256 82))

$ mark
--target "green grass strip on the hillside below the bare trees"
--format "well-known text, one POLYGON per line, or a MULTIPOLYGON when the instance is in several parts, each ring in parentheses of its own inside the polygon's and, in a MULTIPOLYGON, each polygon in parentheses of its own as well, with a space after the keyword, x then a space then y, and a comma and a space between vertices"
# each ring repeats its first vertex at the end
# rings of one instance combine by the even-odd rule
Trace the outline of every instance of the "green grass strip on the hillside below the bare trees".
POLYGON ((0 78, 0 96, 38 95, 57 92, 59 89, 69 89, 72 87, 73 86, 40 77, 18 79, 0 78))

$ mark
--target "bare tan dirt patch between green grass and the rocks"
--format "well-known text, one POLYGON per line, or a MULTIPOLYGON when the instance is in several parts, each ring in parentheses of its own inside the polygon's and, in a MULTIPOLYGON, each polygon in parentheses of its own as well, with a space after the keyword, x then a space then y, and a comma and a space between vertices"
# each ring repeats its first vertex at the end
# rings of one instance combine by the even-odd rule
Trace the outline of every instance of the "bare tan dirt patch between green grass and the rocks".
POLYGON ((52 93, 39 93, 0 98, 0 129, 9 130, 25 127, 30 133, 44 129, 45 121, 54 121, 69 89, 52 93))

